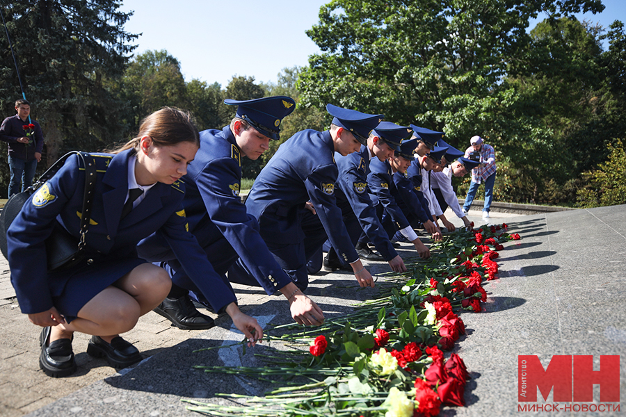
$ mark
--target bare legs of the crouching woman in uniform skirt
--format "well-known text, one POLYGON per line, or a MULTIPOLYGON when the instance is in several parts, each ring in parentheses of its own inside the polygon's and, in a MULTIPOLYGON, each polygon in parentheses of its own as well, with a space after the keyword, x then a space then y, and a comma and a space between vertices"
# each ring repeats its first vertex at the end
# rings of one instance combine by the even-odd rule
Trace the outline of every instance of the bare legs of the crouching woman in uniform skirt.
POLYGON ((171 285, 165 270, 143 263, 89 300, 72 322, 52 327, 50 341, 81 332, 100 336, 110 343, 115 336, 135 327, 139 317, 158 306, 171 285))

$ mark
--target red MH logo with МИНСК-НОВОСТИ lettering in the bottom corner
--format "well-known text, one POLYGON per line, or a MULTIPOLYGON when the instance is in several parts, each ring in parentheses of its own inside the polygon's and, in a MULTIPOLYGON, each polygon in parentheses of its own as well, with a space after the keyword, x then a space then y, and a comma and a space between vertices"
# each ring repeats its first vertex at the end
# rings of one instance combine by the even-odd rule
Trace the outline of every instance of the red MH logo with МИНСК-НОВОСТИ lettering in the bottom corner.
POLYGON ((600 402, 620 401, 619 355, 601 355, 600 370, 593 370, 591 355, 554 355, 545 369, 536 355, 520 355, 517 370, 518 402, 537 402, 537 389, 545 401, 554 390, 554 404, 532 405, 533 410, 529 409, 529 404, 518 405, 518 411, 537 411, 536 407, 541 407, 542 411, 609 411, 609 408, 619 411, 619 404, 571 404, 593 402, 593 384, 600 385, 600 402), (568 404, 559 406, 558 402, 568 404))

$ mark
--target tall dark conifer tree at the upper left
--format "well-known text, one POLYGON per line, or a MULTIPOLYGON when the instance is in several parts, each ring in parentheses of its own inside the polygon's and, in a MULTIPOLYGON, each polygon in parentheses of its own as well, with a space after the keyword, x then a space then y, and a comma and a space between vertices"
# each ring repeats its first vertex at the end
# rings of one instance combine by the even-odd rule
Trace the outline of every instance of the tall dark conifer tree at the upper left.
MULTIPOLYGON (((102 149, 119 139, 125 104, 106 89, 122 74, 136 35, 124 24, 131 13, 115 0, 3 2, 6 28, 32 115, 40 122, 50 165, 68 149, 102 149)), ((2 28, 4 29, 4 28, 2 28)), ((4 32, 4 31, 3 31, 4 32)), ((0 37, 0 106, 14 112, 20 98, 6 36, 0 37)), ((1 192, 4 190, 1 186, 1 192)))

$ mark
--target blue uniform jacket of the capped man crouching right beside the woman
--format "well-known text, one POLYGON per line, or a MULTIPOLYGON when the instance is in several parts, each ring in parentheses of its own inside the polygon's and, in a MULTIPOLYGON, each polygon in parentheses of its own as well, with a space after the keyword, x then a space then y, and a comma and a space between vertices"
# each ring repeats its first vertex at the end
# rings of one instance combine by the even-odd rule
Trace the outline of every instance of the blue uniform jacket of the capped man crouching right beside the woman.
MULTIPOLYGON (((200 132, 200 150, 183 177, 186 192, 183 200, 189 231, 202 247, 215 248, 218 240, 227 240, 245 261, 255 279, 268 294, 289 284, 291 279, 275 261, 259 234, 259 224, 246 213, 241 202, 241 151, 230 126, 200 132)), ((141 257, 149 261, 172 259, 172 252, 156 234, 138 246, 141 257)), ((208 253, 209 260, 220 256, 208 253)))

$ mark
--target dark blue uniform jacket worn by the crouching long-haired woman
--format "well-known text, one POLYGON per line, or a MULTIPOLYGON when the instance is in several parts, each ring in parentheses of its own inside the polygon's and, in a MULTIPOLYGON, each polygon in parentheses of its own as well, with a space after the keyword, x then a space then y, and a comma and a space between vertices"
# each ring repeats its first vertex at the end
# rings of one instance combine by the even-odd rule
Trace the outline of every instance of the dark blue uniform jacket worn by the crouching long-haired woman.
MULTIPOLYGON (((216 308, 236 301, 193 235, 186 231, 182 181, 171 186, 157 183, 120 221, 128 193, 128 160, 133 153, 134 150, 129 149, 117 155, 94 154, 97 181, 86 238, 90 257, 102 265, 114 264, 122 257, 137 259, 138 241, 158 230, 181 259, 188 275, 207 291, 209 301, 216 303, 216 308)), ((47 272, 45 239, 55 224, 61 224, 70 234, 79 237, 84 181, 84 168, 79 167, 79 158, 68 158, 54 177, 24 204, 7 231, 11 281, 23 313, 50 309, 55 305, 53 298, 63 293, 68 283, 79 282, 84 292, 95 291, 93 295, 96 295, 121 277, 104 276, 99 268, 77 268, 81 270, 77 273, 85 276, 78 281, 72 277, 74 270, 47 272)))

